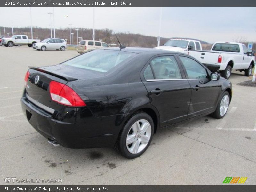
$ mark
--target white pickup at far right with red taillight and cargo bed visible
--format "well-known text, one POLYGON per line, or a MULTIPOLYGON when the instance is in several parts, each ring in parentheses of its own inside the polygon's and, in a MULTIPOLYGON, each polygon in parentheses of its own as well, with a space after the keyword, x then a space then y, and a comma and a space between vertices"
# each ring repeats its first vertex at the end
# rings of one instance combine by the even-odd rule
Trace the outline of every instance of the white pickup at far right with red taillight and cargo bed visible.
POLYGON ((211 51, 189 51, 189 55, 195 57, 212 72, 220 71, 221 76, 228 79, 231 70, 244 71, 245 76, 252 74, 254 67, 254 51, 248 52, 242 43, 215 42, 211 51))

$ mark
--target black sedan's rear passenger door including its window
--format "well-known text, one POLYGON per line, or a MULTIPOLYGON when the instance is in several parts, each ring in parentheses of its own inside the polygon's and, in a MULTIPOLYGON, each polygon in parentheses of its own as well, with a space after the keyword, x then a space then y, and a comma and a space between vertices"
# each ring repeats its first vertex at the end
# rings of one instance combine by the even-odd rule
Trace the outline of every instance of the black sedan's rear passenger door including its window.
POLYGON ((187 119, 191 89, 175 56, 152 58, 142 73, 151 104, 159 112, 160 127, 187 119))

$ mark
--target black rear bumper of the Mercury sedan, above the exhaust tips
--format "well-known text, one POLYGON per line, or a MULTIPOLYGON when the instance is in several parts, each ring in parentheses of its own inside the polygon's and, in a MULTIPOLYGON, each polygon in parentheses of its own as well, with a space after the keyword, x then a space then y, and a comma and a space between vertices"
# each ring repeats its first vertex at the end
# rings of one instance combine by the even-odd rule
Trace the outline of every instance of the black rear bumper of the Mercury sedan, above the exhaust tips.
POLYGON ((63 147, 112 147, 120 131, 120 127, 115 126, 117 116, 94 117, 87 107, 63 107, 63 111, 55 110, 51 114, 25 96, 21 98, 21 106, 28 122, 37 132, 63 147))

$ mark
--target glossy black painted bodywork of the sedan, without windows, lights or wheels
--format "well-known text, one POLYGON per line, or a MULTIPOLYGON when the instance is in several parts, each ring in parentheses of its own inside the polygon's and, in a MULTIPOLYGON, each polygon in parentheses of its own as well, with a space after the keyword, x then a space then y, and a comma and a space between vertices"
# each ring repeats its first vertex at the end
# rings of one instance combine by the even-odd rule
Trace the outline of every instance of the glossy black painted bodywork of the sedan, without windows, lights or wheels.
MULTIPOLYGON (((119 51, 118 48, 107 48, 119 51)), ((137 56, 105 74, 63 64, 30 68, 28 85, 21 98, 22 109, 29 123, 44 137, 68 148, 110 147, 129 117, 138 110, 147 112, 155 123, 155 131, 200 115, 213 112, 231 83, 220 78, 187 80, 178 52, 147 48, 125 48, 137 56), (174 55, 182 80, 146 81, 143 72, 152 58, 174 55), (37 84, 35 77, 40 76, 37 84), (68 107, 51 100, 50 81, 71 87, 86 103, 85 107, 68 107), (193 87, 199 86, 198 90, 193 87), (160 94, 151 93, 163 90, 160 94), (26 94, 44 106, 54 109, 50 114, 26 98, 26 94)), ((86 53, 84 53, 86 54, 86 53)), ((190 57, 192 58, 192 57, 190 57)), ((198 61, 197 61, 198 62, 198 61)), ((203 66, 203 65, 202 65, 203 66)))

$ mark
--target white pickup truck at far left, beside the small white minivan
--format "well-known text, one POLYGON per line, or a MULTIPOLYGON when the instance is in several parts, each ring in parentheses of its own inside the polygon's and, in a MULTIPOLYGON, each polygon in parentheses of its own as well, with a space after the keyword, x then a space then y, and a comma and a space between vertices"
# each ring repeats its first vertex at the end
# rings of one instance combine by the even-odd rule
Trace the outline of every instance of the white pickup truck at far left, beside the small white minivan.
POLYGON ((13 45, 28 45, 32 47, 34 43, 39 43, 40 39, 28 39, 27 35, 14 35, 9 38, 3 38, 2 44, 5 47, 12 47, 13 45))

